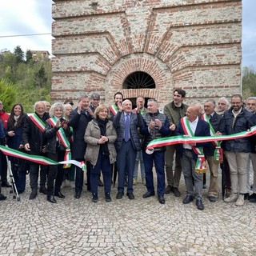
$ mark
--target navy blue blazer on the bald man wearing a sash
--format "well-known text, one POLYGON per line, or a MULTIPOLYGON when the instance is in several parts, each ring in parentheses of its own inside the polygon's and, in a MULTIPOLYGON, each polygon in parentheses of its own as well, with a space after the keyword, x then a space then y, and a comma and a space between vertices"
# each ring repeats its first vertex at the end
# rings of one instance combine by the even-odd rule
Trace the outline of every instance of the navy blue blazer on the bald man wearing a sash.
MULTIPOLYGON (((184 134, 185 134, 185 131, 182 128, 182 122, 179 121, 178 122, 178 126, 177 126, 177 128, 175 130, 175 135, 184 135, 184 134)), ((202 120, 201 118, 198 118, 198 125, 197 125, 197 128, 196 128, 195 132, 194 132, 194 136, 210 136, 210 126, 209 126, 209 123, 204 121, 204 120, 202 120)), ((196 143, 195 146, 196 147, 202 146, 203 147, 203 151, 205 152, 207 150, 207 148, 209 148, 210 142, 196 143)), ((183 145, 179 144, 178 145, 178 154, 180 154, 181 157, 182 157, 182 152, 183 152, 183 145)), ((198 154, 196 154, 194 152, 194 150, 192 150, 192 154, 193 154, 194 160, 197 160, 198 159, 198 154)))

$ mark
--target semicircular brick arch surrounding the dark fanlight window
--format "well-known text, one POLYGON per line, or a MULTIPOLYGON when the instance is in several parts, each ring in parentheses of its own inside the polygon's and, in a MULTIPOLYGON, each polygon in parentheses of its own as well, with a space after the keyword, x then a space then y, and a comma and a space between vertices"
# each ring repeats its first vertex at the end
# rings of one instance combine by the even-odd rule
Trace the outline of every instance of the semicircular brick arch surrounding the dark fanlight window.
POLYGON ((156 98, 158 102, 165 102, 172 95, 172 79, 168 66, 150 54, 130 54, 121 58, 112 66, 106 76, 104 84, 106 102, 113 99, 117 91, 121 91, 124 98, 136 98, 142 95, 145 98, 156 98), (154 79, 155 89, 123 89, 126 78, 136 72, 142 71, 154 79), (166 88, 166 85, 168 88, 166 88))

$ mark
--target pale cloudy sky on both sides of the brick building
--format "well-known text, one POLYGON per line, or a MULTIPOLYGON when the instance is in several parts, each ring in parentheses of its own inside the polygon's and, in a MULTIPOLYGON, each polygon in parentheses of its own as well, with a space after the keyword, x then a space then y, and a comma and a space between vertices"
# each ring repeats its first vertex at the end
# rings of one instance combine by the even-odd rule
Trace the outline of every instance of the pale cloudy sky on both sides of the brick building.
MULTIPOLYGON (((0 0, 0 51, 48 50, 51 54, 51 0, 0 0), (15 36, 31 34, 30 36, 15 36), (42 34, 42 35, 34 35, 42 34)), ((242 0, 242 66, 256 70, 256 0, 242 0)))

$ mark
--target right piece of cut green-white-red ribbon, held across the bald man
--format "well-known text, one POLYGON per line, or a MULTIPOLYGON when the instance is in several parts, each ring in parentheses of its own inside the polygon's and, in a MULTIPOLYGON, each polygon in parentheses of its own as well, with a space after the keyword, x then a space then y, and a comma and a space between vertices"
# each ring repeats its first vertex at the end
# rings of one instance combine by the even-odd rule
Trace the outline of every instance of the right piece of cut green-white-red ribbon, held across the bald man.
POLYGON ((166 138, 158 138, 151 141, 146 147, 146 150, 152 151, 154 147, 168 146, 168 145, 174 145, 178 143, 189 144, 189 143, 198 143, 198 142, 227 141, 230 139, 250 137, 254 134, 256 134, 256 126, 251 127, 250 131, 243 131, 238 134, 230 134, 230 135, 194 136, 194 137, 179 135, 179 136, 172 136, 172 137, 166 137, 166 138))

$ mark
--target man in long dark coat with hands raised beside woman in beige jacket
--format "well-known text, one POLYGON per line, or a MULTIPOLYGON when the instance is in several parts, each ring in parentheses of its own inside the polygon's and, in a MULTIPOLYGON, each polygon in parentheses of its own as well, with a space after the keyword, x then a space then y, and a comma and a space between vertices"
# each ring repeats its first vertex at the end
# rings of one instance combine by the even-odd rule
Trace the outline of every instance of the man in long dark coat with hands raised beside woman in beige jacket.
MULTIPOLYGON (((94 114, 89 107, 89 97, 85 94, 78 100, 78 107, 70 113, 70 126, 74 129, 74 142, 71 148, 72 158, 81 162, 84 161, 86 153, 86 142, 84 135, 88 122, 93 118, 94 114)), ((86 163, 87 175, 87 190, 90 190, 90 165, 86 163)), ((75 194, 74 198, 80 198, 83 186, 83 171, 81 168, 76 167, 75 175, 75 194)))

